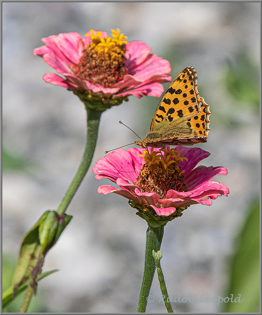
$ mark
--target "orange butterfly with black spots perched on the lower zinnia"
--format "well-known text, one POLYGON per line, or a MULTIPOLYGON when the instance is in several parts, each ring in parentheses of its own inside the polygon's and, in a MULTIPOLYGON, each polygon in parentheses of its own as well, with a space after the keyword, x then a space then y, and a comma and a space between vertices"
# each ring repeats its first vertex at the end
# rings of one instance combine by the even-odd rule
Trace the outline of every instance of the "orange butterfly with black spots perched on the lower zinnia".
POLYGON ((206 142, 209 132, 209 105, 199 96, 197 72, 185 68, 161 98, 141 147, 164 148, 168 145, 192 146, 206 142))

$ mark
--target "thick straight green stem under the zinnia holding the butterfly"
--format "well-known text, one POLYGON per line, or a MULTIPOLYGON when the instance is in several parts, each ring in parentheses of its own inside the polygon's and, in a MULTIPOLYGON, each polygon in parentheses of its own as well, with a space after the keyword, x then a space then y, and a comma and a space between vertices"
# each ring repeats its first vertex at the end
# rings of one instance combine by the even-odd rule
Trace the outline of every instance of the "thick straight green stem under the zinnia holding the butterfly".
POLYGON ((147 298, 153 282, 153 277, 156 269, 156 264, 152 255, 153 250, 159 251, 164 235, 164 226, 153 229, 148 226, 146 233, 146 254, 145 254, 145 269, 142 281, 142 286, 139 295, 137 313, 144 313, 147 308, 147 298))

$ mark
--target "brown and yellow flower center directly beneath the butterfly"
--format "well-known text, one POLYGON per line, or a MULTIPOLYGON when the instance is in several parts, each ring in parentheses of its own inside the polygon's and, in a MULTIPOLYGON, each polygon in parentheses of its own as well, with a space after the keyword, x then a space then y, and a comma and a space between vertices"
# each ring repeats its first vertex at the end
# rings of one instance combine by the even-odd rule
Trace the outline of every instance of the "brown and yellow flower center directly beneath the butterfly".
POLYGON ((181 171, 180 166, 177 165, 180 161, 187 161, 187 158, 180 157, 181 151, 175 151, 174 148, 161 151, 154 151, 153 148, 150 153, 147 150, 143 151, 140 156, 144 157, 146 163, 142 166, 135 184, 142 192, 156 192, 163 199, 170 189, 179 192, 187 191, 184 171, 181 171), (164 152, 165 157, 161 151, 164 152))

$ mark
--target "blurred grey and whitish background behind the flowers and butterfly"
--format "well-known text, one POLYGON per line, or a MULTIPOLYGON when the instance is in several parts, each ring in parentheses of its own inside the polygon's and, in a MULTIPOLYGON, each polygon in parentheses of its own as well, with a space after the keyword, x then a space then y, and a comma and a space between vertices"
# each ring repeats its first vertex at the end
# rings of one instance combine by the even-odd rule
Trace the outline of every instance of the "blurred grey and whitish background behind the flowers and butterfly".
MULTIPOLYGON (((260 3, 2 5, 3 290, 11 285, 24 234, 44 211, 57 208, 85 144, 83 104, 42 80, 55 71, 32 51, 43 45, 42 37, 71 31, 83 36, 90 29, 111 35, 119 28, 129 41, 142 40, 169 60, 172 78, 187 66, 197 71, 198 91, 211 111, 208 141, 198 145, 211 155, 200 165, 226 167, 228 175, 215 180, 230 194, 210 207, 192 205, 166 225, 161 266, 170 297, 226 297, 239 232, 250 210, 258 209, 260 3)), ((92 167, 105 150, 137 140, 119 120, 144 138, 158 102, 131 96, 102 114, 91 167, 67 210, 73 219, 42 269, 59 272, 40 281, 29 312, 136 312, 147 224, 127 199, 97 193, 98 186, 112 183, 95 180, 92 167)), ((151 294, 155 301, 147 312, 166 312, 156 276, 151 294)), ((245 297, 238 290, 234 298, 238 294, 245 297)), ((18 312, 20 302, 21 296, 4 312, 18 312)), ((200 300, 172 306, 174 312, 220 310, 200 300)))

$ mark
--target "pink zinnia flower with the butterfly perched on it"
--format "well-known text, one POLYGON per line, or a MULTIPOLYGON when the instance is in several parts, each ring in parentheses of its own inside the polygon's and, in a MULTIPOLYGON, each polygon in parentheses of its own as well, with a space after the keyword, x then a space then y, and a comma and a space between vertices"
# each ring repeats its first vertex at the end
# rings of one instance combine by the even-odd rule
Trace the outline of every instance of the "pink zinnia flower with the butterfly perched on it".
POLYGON ((153 209, 158 216, 170 217, 181 216, 192 204, 210 206, 212 199, 229 193, 226 185, 211 180, 226 175, 226 168, 195 168, 209 152, 183 146, 162 149, 163 154, 158 149, 148 150, 150 154, 142 148, 118 149, 100 158, 93 168, 95 178, 108 178, 120 189, 103 185, 98 193, 114 192, 130 199, 131 206, 144 213, 153 209))

